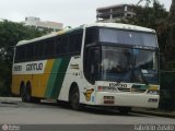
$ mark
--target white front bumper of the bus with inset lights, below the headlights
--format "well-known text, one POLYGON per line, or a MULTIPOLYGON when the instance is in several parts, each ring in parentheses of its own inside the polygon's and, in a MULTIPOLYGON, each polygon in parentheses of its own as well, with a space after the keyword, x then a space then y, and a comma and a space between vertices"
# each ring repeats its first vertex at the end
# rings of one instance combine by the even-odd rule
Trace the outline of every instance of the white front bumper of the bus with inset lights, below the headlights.
POLYGON ((95 105, 158 108, 159 95, 96 92, 95 105))

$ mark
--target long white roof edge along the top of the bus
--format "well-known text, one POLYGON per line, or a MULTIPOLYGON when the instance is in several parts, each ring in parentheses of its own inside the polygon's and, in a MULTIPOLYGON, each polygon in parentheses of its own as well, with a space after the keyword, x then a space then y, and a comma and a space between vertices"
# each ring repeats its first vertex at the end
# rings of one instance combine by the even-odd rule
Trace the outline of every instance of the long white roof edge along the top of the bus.
POLYGON ((30 43, 34 43, 34 41, 39 41, 39 40, 43 40, 43 39, 46 39, 46 38, 55 37, 57 35, 67 34, 67 33, 70 33, 70 32, 73 32, 73 31, 77 31, 77 29, 81 29, 81 28, 84 28, 84 27, 93 27, 93 26, 96 26, 96 27, 112 27, 112 28, 119 28, 119 29, 127 29, 127 31, 129 29, 129 31, 138 31, 138 32, 140 31, 140 32, 155 33, 155 31, 152 29, 152 28, 141 27, 141 26, 137 26, 137 25, 130 25, 130 24, 93 23, 93 24, 84 24, 84 25, 81 25, 81 26, 75 27, 75 28, 62 29, 62 31, 59 31, 59 32, 56 32, 56 33, 51 33, 49 35, 45 35, 45 36, 42 36, 42 37, 30 39, 30 40, 21 40, 21 41, 19 41, 16 44, 16 46, 21 46, 21 45, 25 45, 25 44, 30 44, 30 43))

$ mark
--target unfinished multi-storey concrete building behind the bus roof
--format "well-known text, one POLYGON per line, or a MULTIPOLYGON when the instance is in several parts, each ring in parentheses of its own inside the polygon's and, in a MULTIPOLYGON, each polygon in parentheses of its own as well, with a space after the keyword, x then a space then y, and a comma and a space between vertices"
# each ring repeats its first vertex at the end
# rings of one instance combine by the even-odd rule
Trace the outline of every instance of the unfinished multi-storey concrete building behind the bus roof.
POLYGON ((97 22, 117 22, 125 17, 135 16, 132 4, 115 4, 96 9, 97 22))

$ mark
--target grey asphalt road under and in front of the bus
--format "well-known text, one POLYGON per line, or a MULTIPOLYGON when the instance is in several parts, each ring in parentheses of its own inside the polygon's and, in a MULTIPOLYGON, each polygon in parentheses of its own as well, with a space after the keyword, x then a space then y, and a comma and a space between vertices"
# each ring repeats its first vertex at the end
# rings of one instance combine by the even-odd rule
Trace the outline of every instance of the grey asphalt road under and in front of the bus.
MULTIPOLYGON (((70 109, 68 106, 60 106, 54 102, 27 104, 22 103, 20 98, 0 97, 0 124, 2 126, 95 124, 101 126, 101 128, 104 127, 102 129, 105 129, 107 128, 107 124, 131 124, 135 129, 137 128, 136 126, 140 124, 167 126, 174 123, 175 119, 173 118, 161 118, 133 112, 129 112, 129 115, 120 115, 114 109, 100 109, 92 107, 89 107, 83 111, 75 111, 70 109)), ((71 127, 70 130, 72 130, 71 127)), ((86 130, 89 130, 89 128, 86 128, 86 130)))

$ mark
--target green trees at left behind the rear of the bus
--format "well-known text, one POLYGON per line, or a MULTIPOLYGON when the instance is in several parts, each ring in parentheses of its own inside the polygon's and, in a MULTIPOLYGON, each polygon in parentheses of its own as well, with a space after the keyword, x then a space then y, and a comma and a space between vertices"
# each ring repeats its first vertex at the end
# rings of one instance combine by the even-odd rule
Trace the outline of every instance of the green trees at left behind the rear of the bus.
POLYGON ((0 96, 10 95, 13 47, 22 39, 39 37, 48 33, 22 23, 0 22, 0 96))

